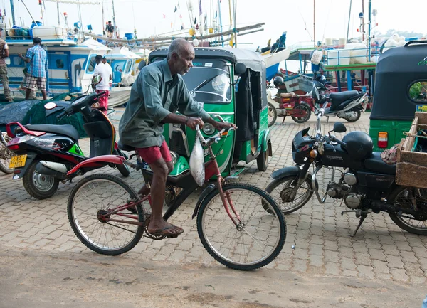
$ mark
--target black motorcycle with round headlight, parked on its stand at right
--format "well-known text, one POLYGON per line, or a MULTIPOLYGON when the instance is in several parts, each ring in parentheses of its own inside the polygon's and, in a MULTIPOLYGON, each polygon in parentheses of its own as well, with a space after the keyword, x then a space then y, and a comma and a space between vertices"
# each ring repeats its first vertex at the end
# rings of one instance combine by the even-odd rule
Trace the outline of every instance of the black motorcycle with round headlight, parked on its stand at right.
MULTIPOLYGON (((298 132, 292 141, 292 157, 297 164, 274 171, 268 191, 289 214, 302 208, 313 193, 320 203, 327 197, 340 199, 360 218, 354 235, 368 213, 385 211, 400 228, 418 235, 427 235, 427 189, 399 186, 395 182, 396 164, 386 164, 381 152, 373 152, 371 137, 364 132, 349 132, 337 139, 331 132, 346 132, 341 122, 333 131, 322 134, 320 118, 325 115, 324 103, 317 114, 315 135, 310 127, 298 132), (310 166, 315 166, 311 174, 310 166), (332 178, 320 196, 317 174, 322 168, 332 169, 332 178), (337 179, 335 174, 340 172, 337 179)), ((265 208, 265 211, 268 211, 265 208)))

